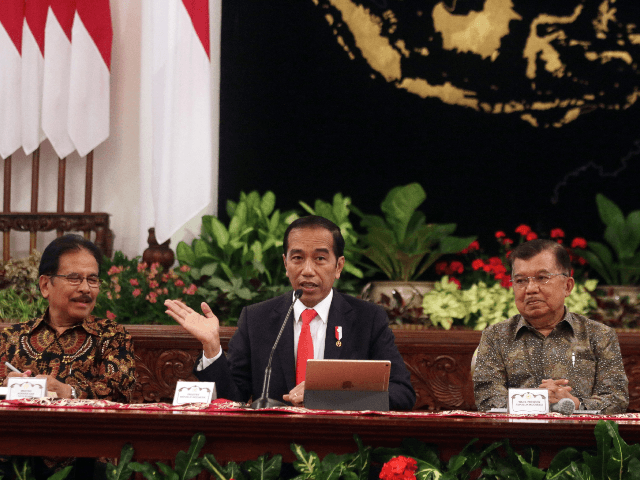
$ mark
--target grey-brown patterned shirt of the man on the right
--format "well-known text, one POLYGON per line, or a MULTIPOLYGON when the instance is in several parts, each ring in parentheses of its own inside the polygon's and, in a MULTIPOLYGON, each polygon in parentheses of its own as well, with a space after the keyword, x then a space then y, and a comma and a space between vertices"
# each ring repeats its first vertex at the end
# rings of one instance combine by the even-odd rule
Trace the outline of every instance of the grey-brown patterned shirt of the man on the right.
POLYGON ((483 333, 473 374, 480 411, 506 408, 509 388, 537 388, 545 379, 566 379, 586 410, 624 413, 628 380, 615 331, 565 311, 545 337, 522 315, 491 325, 483 333))

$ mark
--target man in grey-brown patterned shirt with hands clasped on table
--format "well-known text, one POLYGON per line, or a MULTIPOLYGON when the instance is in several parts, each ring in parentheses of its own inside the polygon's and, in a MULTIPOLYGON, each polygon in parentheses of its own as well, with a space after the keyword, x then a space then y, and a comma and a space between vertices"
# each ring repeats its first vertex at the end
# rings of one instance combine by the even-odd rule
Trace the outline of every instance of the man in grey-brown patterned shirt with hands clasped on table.
POLYGON ((615 331, 564 306, 574 286, 567 251, 532 240, 509 258, 520 314, 482 334, 473 374, 478 410, 506 407, 509 388, 546 388, 551 404, 569 398, 576 410, 624 413, 629 390, 615 331))

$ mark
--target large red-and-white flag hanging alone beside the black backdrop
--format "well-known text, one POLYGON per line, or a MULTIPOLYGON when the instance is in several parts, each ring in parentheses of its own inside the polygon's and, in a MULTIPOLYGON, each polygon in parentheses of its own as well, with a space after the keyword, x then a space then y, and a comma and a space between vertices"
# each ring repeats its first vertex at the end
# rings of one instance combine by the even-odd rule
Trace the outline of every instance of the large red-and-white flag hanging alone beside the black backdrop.
POLYGON ((209 0, 153 0, 154 226, 170 238, 212 199, 209 0))

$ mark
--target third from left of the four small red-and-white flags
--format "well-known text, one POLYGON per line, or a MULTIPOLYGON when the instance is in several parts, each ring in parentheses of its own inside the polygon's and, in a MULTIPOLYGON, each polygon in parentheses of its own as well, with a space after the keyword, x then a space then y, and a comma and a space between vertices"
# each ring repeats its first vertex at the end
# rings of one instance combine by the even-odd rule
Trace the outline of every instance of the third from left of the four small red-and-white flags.
POLYGON ((75 0, 49 0, 44 39, 42 130, 60 158, 75 150, 67 118, 71 70, 71 28, 75 0))

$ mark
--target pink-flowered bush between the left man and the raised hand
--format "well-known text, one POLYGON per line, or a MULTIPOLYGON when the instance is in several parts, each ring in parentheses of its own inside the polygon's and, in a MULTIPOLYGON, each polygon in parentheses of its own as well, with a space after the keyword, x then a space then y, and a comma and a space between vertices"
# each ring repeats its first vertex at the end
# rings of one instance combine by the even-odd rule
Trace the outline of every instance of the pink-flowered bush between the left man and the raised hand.
POLYGON ((191 281, 190 267, 164 271, 158 263, 147 265, 140 257, 128 259, 116 252, 105 258, 94 315, 116 319, 124 324, 174 324, 165 313, 166 299, 182 300, 196 311, 203 301, 191 281))

